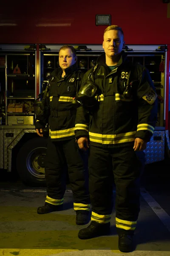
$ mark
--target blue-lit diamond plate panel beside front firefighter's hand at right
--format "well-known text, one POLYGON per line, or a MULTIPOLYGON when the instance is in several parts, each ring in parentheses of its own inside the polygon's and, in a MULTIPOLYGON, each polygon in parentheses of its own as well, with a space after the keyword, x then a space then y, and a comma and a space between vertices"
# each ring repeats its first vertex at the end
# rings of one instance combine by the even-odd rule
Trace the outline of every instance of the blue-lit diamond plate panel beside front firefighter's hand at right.
POLYGON ((147 143, 147 147, 144 150, 145 164, 164 160, 164 139, 165 131, 154 131, 150 142, 147 143))

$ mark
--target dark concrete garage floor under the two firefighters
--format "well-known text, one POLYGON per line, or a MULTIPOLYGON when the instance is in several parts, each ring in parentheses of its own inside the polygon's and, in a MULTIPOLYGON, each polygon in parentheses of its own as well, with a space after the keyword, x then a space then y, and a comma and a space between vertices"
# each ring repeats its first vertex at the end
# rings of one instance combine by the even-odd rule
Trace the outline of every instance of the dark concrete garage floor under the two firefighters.
POLYGON ((110 236, 81 240, 77 233, 88 224, 75 224, 69 185, 63 211, 38 215, 45 188, 26 187, 20 180, 1 182, 0 256, 170 256, 170 174, 162 169, 169 166, 159 165, 161 172, 155 172, 151 164, 142 178, 141 211, 134 236, 137 246, 132 253, 118 249, 114 209, 110 236))

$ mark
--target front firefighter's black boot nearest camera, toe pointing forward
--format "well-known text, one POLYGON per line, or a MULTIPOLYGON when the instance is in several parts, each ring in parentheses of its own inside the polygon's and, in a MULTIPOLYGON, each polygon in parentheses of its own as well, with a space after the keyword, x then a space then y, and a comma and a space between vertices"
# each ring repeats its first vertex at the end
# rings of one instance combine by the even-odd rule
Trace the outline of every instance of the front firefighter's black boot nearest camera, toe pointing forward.
POLYGON ((129 253, 133 251, 133 236, 127 234, 119 234, 119 250, 123 253, 129 253))

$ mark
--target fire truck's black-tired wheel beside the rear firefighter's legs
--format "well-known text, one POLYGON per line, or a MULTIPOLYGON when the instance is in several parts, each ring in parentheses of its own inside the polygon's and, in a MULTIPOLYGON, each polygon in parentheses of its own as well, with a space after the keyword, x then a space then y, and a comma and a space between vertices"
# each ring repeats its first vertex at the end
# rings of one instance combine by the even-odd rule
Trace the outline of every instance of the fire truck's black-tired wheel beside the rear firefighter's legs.
POLYGON ((17 154, 17 172, 28 186, 45 186, 45 155, 47 139, 28 140, 17 154))

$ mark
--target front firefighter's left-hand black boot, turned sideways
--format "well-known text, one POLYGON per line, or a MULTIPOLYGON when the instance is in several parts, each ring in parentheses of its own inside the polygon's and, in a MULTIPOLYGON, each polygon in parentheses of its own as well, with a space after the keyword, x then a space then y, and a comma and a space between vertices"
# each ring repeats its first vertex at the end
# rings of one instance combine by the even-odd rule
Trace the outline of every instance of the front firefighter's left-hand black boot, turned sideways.
POLYGON ((79 239, 90 239, 97 236, 109 235, 111 233, 110 225, 110 222, 101 224, 96 221, 91 221, 88 227, 79 230, 78 237, 79 239))

